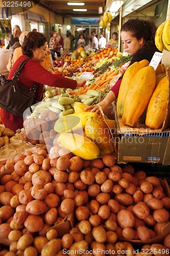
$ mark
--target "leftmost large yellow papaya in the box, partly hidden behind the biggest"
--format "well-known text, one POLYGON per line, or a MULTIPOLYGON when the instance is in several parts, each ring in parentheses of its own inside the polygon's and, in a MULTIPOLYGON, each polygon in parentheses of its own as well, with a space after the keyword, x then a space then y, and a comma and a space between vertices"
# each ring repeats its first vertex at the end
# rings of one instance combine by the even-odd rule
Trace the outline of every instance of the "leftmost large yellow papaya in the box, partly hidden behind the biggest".
POLYGON ((124 100, 125 100, 125 96, 126 96, 129 84, 131 83, 135 74, 140 69, 141 69, 141 65, 139 62, 136 61, 131 66, 129 66, 125 71, 122 82, 120 84, 120 89, 117 97, 116 111, 119 117, 121 117, 123 114, 124 100))

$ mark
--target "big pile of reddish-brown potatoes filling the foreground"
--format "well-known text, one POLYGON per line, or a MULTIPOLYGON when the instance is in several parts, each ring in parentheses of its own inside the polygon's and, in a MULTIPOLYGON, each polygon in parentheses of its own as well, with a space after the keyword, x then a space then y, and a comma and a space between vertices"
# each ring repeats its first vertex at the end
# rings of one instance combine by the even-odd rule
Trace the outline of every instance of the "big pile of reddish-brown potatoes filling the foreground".
MULTIPOLYGON (((112 155, 90 161, 58 146, 50 154, 38 147, 6 160, 4 170, 14 171, 0 185, 0 238, 11 241, 9 255, 67 255, 63 249, 78 248, 103 255, 95 249, 114 250, 123 246, 120 238, 147 243, 169 223, 170 198, 160 180, 115 164, 112 155), (74 210, 76 226, 60 237, 53 227, 74 210)), ((163 248, 168 244, 169 237, 163 248)))

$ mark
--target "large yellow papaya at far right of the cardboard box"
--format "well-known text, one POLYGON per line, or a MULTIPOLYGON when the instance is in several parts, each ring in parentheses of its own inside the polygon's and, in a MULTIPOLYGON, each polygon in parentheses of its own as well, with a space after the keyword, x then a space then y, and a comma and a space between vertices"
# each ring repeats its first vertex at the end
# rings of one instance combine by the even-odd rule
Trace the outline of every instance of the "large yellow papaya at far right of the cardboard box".
POLYGON ((167 76, 158 83, 148 104, 145 124, 151 129, 159 129, 163 123, 168 105, 169 82, 167 76))

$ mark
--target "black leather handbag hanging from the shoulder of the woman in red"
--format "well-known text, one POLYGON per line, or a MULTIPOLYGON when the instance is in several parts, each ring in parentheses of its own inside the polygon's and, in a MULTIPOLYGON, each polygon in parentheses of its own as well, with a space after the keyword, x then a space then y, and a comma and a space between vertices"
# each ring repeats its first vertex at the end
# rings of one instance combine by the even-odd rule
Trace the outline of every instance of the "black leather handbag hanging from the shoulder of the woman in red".
POLYGON ((20 63, 12 80, 6 79, 5 76, 0 74, 0 107, 20 118, 23 118, 23 112, 26 109, 36 103, 37 83, 34 83, 31 89, 18 83, 19 75, 28 60, 30 58, 20 63))

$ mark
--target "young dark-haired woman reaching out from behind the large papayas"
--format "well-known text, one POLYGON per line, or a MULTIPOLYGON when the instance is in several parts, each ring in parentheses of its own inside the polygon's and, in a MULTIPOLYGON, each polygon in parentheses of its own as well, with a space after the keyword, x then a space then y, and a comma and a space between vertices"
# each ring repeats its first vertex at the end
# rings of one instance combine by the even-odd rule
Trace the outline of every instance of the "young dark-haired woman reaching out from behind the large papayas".
MULTIPOLYGON (((121 28, 121 39, 125 51, 129 55, 133 55, 130 62, 132 65, 135 61, 147 59, 151 61, 155 52, 159 50, 155 46, 156 26, 150 20, 141 20, 138 18, 129 19, 121 28)), ((130 66, 129 65, 129 66, 130 66)), ((105 111, 118 96, 122 77, 118 79, 111 88, 107 96, 99 104, 88 106, 85 110, 92 109, 91 112, 100 112, 99 105, 105 111)))

